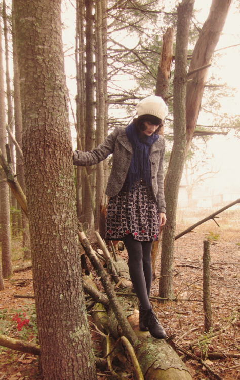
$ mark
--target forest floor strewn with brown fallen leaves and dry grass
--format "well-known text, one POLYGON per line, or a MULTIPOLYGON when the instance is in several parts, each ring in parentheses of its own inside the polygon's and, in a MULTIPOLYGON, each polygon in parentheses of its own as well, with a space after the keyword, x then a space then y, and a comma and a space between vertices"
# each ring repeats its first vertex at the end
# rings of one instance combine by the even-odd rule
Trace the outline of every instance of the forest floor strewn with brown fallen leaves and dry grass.
MULTIPOLYGON (((212 212, 205 210, 200 214, 196 211, 186 213, 186 210, 179 210, 176 234, 212 212)), ((174 336, 171 340, 172 347, 182 357, 195 380, 240 379, 239 207, 223 212, 217 221, 220 227, 213 220, 209 220, 198 226, 194 232, 175 241, 174 295, 178 302, 161 304, 153 301, 154 310, 168 337, 174 336), (202 256, 203 241, 206 238, 211 242, 213 336, 204 332, 202 256), (184 350, 188 350, 188 354, 184 350), (199 361, 200 358, 209 369, 199 361)), ((16 240, 14 244, 13 263, 16 266, 23 261, 20 242, 16 240)), ((159 261, 158 259, 151 291, 154 296, 158 295, 159 261)), ((0 294, 0 333, 34 343, 37 340, 34 300, 15 298, 16 294, 33 295, 31 269, 15 272, 13 277, 5 280, 5 290, 0 294), (21 331, 16 328, 16 315, 22 320, 30 319, 21 331)), ((99 376, 100 378, 109 377, 99 376)), ((128 378, 134 379, 134 375, 129 375, 128 378)), ((38 358, 0 346, 0 380, 7 379, 42 379, 38 358)))

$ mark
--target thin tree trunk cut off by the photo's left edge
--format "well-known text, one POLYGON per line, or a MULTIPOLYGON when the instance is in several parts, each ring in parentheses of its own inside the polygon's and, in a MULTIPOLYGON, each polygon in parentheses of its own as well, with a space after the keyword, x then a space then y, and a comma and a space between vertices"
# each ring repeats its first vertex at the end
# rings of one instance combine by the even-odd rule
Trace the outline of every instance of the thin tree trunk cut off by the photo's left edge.
MULTIPOLYGON (((5 89, 4 89, 4 68, 2 50, 2 28, 0 25, 0 149, 6 157, 5 144, 7 142, 6 120, 5 120, 5 89)), ((4 178, 2 170, 0 179, 4 178)), ((11 230, 10 230, 10 207, 9 207, 9 188, 7 182, 0 183, 0 225, 2 243, 2 273, 3 278, 12 275, 11 258, 11 230)))

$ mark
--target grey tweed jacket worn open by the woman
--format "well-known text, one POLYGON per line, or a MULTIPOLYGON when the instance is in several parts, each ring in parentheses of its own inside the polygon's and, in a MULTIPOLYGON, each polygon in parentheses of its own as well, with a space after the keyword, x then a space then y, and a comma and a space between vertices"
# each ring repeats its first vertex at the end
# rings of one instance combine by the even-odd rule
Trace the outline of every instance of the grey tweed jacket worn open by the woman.
MULTIPOLYGON (((164 137, 159 136, 159 139, 149 149, 152 193, 159 212, 166 212, 163 173, 164 152, 164 137)), ((132 145, 126 135, 125 128, 116 127, 96 149, 86 152, 81 150, 74 151, 73 164, 78 166, 95 165, 107 158, 111 153, 113 153, 112 169, 105 193, 110 197, 114 197, 123 187, 133 155, 132 145)))

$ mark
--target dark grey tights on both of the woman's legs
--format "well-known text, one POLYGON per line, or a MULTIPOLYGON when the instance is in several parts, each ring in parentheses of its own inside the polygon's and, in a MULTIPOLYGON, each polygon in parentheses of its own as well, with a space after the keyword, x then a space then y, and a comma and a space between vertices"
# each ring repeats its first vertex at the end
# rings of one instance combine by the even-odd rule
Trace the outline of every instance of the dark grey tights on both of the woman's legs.
POLYGON ((152 284, 151 249, 152 241, 139 242, 129 234, 123 238, 128 251, 130 278, 143 309, 151 307, 149 295, 152 284))

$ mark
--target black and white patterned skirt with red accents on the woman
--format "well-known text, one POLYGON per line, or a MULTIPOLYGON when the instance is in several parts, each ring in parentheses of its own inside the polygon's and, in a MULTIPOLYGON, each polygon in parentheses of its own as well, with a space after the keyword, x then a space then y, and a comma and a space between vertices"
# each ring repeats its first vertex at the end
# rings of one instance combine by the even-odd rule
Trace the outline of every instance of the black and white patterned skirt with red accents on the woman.
POLYGON ((122 240, 128 234, 141 242, 158 240, 159 211, 151 188, 142 181, 132 191, 126 182, 116 196, 109 198, 105 239, 122 240))

